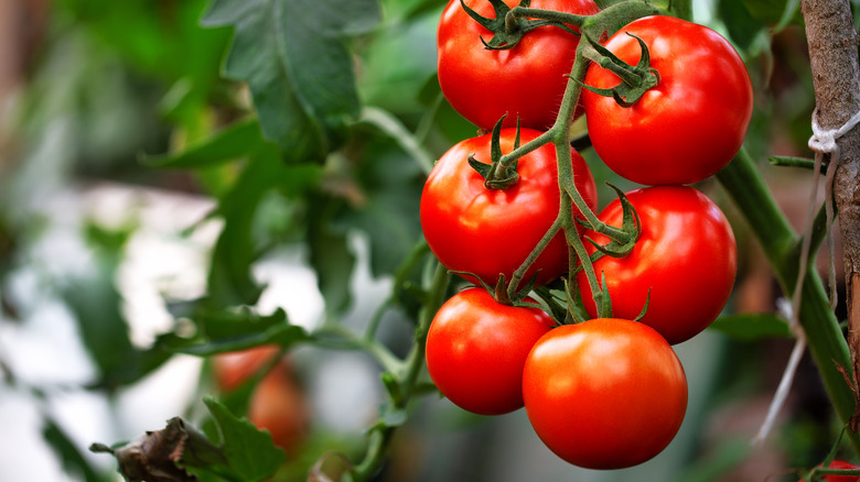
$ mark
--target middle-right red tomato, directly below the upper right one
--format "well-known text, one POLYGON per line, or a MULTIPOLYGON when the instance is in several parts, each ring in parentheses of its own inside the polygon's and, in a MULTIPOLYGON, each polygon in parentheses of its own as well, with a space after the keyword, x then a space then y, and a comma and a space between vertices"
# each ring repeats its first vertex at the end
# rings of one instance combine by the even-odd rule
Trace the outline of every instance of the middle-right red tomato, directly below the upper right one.
MULTIPOLYGON (((626 196, 642 221, 639 239, 627 256, 598 260, 595 273, 606 276, 614 316, 634 319, 648 300, 642 322, 680 343, 707 328, 729 300, 738 270, 734 233, 720 208, 692 187, 653 186, 626 196)), ((598 218, 621 226, 617 199, 598 218)), ((584 273, 577 281, 585 309, 596 316, 584 273)))

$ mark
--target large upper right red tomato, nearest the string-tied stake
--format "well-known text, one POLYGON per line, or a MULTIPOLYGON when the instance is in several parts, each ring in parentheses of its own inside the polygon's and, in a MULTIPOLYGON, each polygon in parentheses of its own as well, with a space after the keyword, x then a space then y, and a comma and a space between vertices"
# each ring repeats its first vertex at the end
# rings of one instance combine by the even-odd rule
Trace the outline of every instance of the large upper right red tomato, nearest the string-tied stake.
MULTIPOLYGON (((743 61, 717 32, 671 17, 636 20, 606 41, 635 65, 648 45, 659 84, 630 108, 582 91, 594 150, 620 176, 645 185, 690 184, 716 174, 738 153, 753 107, 743 61)), ((592 64, 585 84, 614 87, 620 79, 592 64)))

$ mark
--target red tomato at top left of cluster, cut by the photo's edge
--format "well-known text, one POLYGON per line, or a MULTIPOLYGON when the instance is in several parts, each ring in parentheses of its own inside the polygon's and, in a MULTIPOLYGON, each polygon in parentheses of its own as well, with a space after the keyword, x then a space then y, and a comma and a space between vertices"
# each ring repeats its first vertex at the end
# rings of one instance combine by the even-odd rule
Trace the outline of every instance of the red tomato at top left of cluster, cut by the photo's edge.
MULTIPOLYGON (((519 0, 505 0, 515 7, 519 0)), ((483 17, 495 18, 487 0, 466 0, 483 17)), ((578 14, 599 11, 593 0, 533 0, 531 7, 578 14)), ((504 114, 505 125, 545 129, 556 116, 573 66, 579 37, 558 26, 528 32, 510 50, 492 51, 481 39, 493 34, 473 20, 460 0, 450 0, 437 32, 439 85, 461 116, 490 131, 504 114)))

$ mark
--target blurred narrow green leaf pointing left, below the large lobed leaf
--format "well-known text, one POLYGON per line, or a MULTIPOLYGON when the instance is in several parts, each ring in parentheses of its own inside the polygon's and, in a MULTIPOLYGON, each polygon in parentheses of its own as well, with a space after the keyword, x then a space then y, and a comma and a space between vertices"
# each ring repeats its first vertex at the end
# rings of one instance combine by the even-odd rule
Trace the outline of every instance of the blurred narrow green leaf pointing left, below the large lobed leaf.
POLYGON ((141 161, 150 167, 211 167, 244 157, 257 151, 262 143, 257 119, 246 119, 228 125, 205 142, 192 145, 179 154, 147 156, 141 161))

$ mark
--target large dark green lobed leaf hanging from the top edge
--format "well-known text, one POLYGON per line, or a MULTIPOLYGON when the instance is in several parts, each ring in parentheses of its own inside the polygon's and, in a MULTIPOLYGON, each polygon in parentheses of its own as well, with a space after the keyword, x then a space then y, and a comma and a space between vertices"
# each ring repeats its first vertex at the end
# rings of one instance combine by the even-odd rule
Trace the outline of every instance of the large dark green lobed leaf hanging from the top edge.
POLYGON ((248 84, 266 139, 287 162, 323 161, 361 108, 344 37, 380 15, 375 0, 215 0, 202 24, 234 29, 225 75, 248 84))

